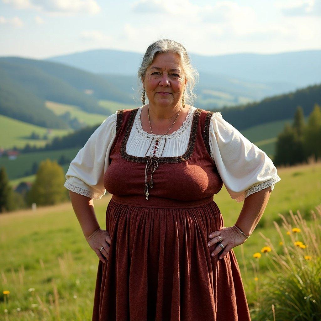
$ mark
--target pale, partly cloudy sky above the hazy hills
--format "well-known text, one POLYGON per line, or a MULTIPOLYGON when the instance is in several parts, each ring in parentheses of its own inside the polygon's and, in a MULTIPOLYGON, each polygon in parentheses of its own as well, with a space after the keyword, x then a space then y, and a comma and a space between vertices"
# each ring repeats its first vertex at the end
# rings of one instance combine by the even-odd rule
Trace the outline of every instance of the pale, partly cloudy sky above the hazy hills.
POLYGON ((0 0, 0 56, 144 53, 163 38, 206 56, 321 49, 321 0, 0 0))

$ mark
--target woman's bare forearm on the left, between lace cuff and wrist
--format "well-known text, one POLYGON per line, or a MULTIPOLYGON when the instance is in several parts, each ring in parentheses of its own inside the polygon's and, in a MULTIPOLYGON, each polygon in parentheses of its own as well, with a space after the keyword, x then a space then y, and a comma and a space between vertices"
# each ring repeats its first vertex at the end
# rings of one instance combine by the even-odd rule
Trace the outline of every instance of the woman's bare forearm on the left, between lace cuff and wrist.
POLYGON ((69 191, 69 196, 83 235, 87 239, 92 232, 100 228, 95 215, 93 200, 72 191, 69 191))

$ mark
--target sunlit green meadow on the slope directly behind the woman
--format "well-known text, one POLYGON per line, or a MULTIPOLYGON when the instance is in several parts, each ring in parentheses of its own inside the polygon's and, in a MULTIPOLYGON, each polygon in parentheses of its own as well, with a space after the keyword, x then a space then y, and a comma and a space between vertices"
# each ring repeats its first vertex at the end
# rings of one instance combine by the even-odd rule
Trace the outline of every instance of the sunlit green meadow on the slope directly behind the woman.
MULTIPOLYGON (((291 211, 299 211, 309 222, 311 211, 321 204, 321 162, 278 168, 278 175, 281 181, 275 184, 255 231, 233 248, 253 316, 259 291, 253 254, 267 245, 263 236, 280 250, 273 223, 281 226, 279 214, 289 218, 291 211)), ((103 229, 110 197, 94 201, 103 229)), ((224 226, 233 225, 243 203, 232 200, 225 187, 214 201, 224 226)), ((285 235, 286 230, 281 230, 285 235)), ((269 273, 268 255, 262 254, 259 261, 262 280, 269 273)), ((91 320, 99 259, 87 244, 70 202, 0 215, 0 257, 1 320, 91 320)))

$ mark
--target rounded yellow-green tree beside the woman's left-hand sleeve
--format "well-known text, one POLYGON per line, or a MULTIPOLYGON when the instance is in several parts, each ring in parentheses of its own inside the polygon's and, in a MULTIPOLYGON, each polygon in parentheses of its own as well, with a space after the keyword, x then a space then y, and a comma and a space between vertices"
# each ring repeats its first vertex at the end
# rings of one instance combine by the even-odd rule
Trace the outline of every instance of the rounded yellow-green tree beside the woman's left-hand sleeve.
POLYGON ((64 182, 64 171, 55 160, 42 161, 36 179, 27 194, 28 204, 52 205, 65 201, 68 197, 64 182))

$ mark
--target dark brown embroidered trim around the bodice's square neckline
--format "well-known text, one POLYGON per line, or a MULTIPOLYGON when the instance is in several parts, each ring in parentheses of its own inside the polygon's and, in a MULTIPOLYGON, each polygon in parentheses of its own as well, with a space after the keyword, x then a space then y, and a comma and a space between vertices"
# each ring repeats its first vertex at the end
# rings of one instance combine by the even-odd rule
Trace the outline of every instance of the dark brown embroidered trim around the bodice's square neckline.
MULTIPOLYGON (((146 163, 147 157, 138 157, 138 156, 134 156, 134 155, 129 155, 126 152, 127 140, 128 140, 131 128, 133 126, 134 119, 135 119, 138 109, 139 108, 136 108, 131 111, 131 114, 129 116, 127 126, 126 126, 125 136, 124 136, 124 139, 123 139, 123 142, 121 145, 120 154, 124 160, 129 160, 129 161, 133 161, 133 162, 137 162, 137 163, 146 163)), ((181 156, 159 157, 159 158, 157 158, 157 161, 159 164, 161 164, 161 163, 178 163, 181 161, 188 160, 191 157, 193 150, 194 150, 196 134, 197 134, 197 125, 198 125, 198 120, 199 120, 199 116, 201 114, 201 111, 202 111, 202 109, 196 108, 196 110, 194 112, 191 133, 189 136, 189 141, 188 141, 186 152, 181 156)))

